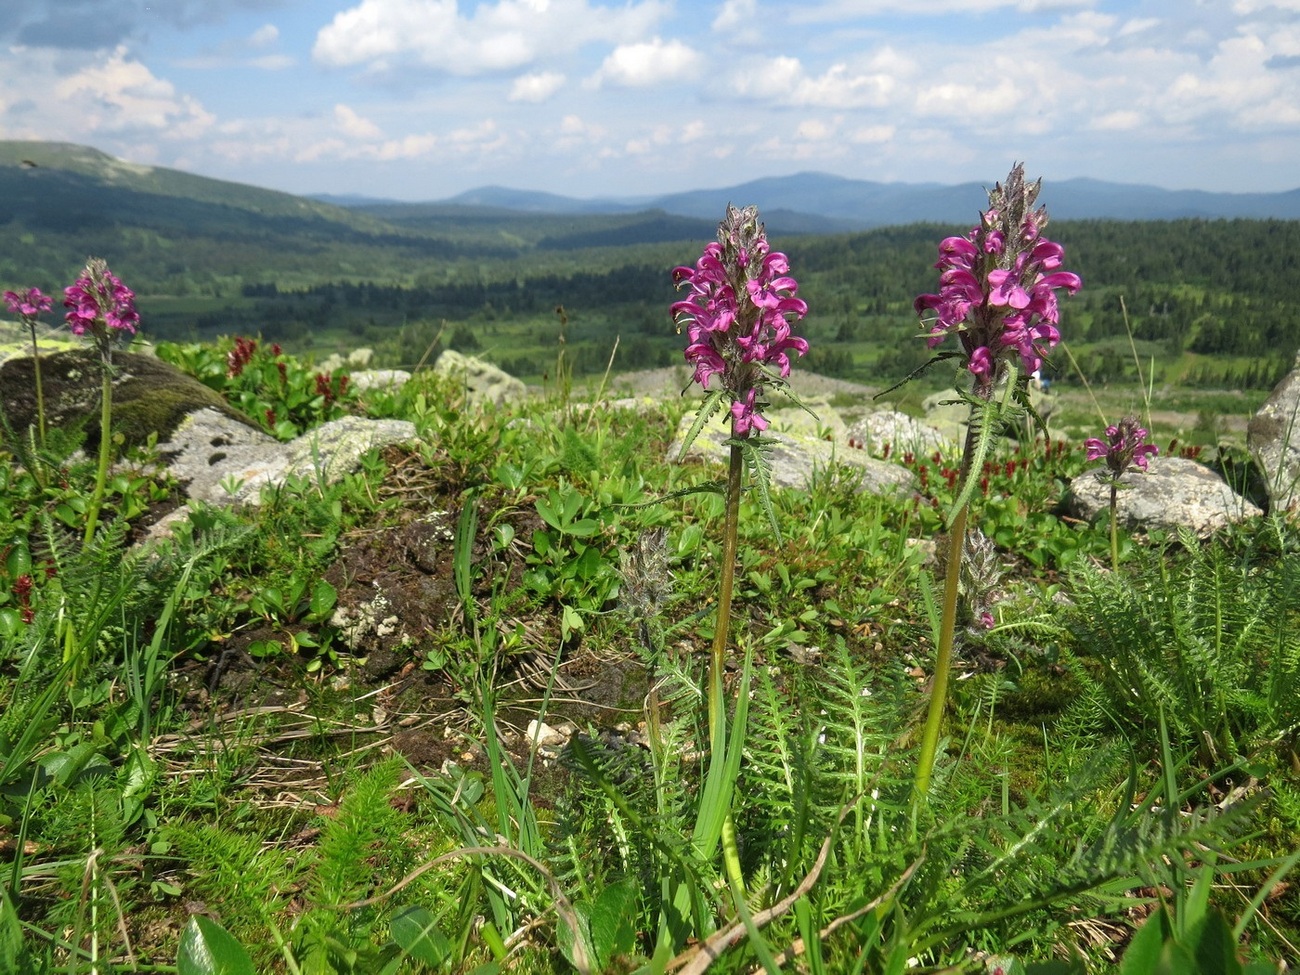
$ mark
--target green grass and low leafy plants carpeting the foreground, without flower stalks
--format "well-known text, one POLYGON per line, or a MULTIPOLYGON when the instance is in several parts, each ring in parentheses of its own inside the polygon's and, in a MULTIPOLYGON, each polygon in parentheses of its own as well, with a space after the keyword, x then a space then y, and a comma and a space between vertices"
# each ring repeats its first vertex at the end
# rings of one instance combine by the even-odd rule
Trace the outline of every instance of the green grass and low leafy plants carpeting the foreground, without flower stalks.
MULTIPOLYGON (((554 360, 554 344, 534 348, 554 360)), ((888 402, 913 410, 918 394, 888 402)), ((421 373, 368 400, 411 419, 420 446, 257 510, 200 510, 148 558, 122 547, 125 525, 79 550, 52 489, 13 467, 0 970, 170 970, 191 914, 266 972, 633 971, 656 948, 720 939, 734 920, 720 863, 688 837, 720 503, 673 497, 716 472, 663 456, 685 403, 588 412, 582 396, 482 411, 421 373), (328 614, 260 595, 312 592, 350 546, 430 510, 460 525, 446 575, 420 569, 451 608, 382 676, 377 654, 341 649, 328 614), (633 549, 641 569, 620 559, 633 549), (34 572, 23 623, 14 584, 34 572), (88 664, 69 681, 73 610, 88 664), (300 632, 317 647, 290 654, 283 634, 300 632), (254 636, 257 659, 240 653, 254 636), (578 749, 526 748, 530 718, 571 715, 578 749)), ((1182 402, 1195 394, 1158 406, 1182 402)), ((1087 425, 1074 398, 1070 411, 1087 425)), ((1014 957, 1105 972, 1153 892, 1186 915, 1212 871, 1242 957, 1294 958, 1300 897, 1274 871, 1300 809, 1300 537, 1261 520, 1204 546, 1150 540, 1106 577, 1087 568, 1105 560, 1104 530, 1052 514, 1082 451, 1023 459, 991 484, 1015 504, 976 500, 1005 567, 996 625, 962 632, 967 676, 915 814, 936 510, 827 474, 774 493, 777 545, 757 500, 742 504, 732 628, 754 677, 733 814, 762 939, 807 971, 984 972, 1014 957), (1218 655, 1213 698, 1176 682, 1190 676, 1174 650, 1218 655), (1147 675, 1147 707, 1121 663, 1147 675)), ((91 472, 66 467, 58 490, 75 494, 91 472)), ((714 970, 750 970, 753 939, 720 946, 714 970)))

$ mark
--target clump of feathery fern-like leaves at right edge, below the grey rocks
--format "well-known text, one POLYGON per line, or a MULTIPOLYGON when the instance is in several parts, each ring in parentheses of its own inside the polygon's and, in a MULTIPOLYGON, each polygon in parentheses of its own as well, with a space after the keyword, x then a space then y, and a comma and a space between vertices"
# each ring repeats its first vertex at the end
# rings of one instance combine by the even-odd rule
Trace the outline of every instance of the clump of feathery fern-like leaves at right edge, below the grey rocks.
POLYGON ((1075 673, 1150 748, 1164 715, 1178 748, 1213 770, 1300 727, 1300 576, 1292 530, 1271 521, 1244 547, 1143 550, 1130 572, 1074 576, 1075 673))

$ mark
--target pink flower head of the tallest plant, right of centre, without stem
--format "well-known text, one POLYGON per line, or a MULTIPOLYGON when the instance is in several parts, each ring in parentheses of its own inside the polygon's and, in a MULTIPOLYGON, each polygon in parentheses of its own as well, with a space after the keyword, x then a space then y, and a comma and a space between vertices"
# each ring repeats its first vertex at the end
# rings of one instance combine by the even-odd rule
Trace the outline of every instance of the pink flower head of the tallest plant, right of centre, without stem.
POLYGON ((939 244, 939 292, 916 298, 931 348, 956 333, 975 393, 992 395, 1002 365, 1019 358, 1027 373, 1061 341, 1057 289, 1074 294, 1078 274, 1060 270, 1065 250, 1041 235, 1048 212, 1034 209, 1043 181, 1024 182, 1017 165, 988 195, 989 208, 966 237, 939 244))

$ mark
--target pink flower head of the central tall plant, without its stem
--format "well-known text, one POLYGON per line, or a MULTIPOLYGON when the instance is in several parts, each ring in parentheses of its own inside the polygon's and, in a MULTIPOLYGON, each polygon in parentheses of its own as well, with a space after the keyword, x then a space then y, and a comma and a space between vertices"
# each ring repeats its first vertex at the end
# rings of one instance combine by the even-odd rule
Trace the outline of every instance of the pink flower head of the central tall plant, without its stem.
POLYGON ((694 382, 708 389, 720 377, 732 399, 732 432, 763 432, 763 386, 790 374, 790 352, 806 355, 807 339, 792 325, 807 315, 790 277, 789 259, 772 251, 758 222, 758 208, 727 207, 718 240, 705 247, 694 266, 672 272, 688 295, 672 304, 677 330, 686 329, 686 361, 694 382))

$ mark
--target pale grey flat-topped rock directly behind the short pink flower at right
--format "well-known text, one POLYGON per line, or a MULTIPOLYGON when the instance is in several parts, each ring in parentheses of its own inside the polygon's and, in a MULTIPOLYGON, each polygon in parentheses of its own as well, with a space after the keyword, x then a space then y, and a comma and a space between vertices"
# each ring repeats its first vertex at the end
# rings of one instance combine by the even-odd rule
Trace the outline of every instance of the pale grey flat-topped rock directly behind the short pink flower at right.
MULTIPOLYGON (((1147 473, 1121 481, 1117 512, 1128 529, 1188 528, 1206 538, 1221 528, 1262 514, 1204 464, 1184 458, 1150 459, 1147 473)), ((1076 517, 1109 517, 1110 486, 1091 473, 1070 485, 1069 507, 1076 517)))

